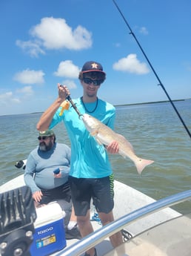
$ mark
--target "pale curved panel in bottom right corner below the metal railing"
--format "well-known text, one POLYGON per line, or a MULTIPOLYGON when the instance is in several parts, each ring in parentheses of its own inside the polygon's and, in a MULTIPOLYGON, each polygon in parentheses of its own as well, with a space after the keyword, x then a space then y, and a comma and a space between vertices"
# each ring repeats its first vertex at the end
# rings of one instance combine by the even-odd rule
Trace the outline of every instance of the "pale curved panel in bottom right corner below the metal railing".
POLYGON ((105 256, 190 256, 191 219, 178 217, 148 230, 105 256))

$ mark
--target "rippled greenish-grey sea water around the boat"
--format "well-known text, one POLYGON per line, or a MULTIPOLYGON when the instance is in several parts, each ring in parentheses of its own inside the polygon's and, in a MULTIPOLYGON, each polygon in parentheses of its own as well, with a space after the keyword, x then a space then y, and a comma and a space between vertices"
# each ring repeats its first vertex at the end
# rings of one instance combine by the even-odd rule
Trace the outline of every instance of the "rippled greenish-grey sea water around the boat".
MULTIPOLYGON (((175 102, 175 106, 191 132, 191 100, 175 102)), ((14 165, 38 145, 36 123, 40 116, 0 116, 0 185, 23 173, 14 165)), ((54 131, 57 142, 70 145, 62 123, 54 131)), ((115 180, 155 200, 191 188, 191 139, 169 102, 116 107, 115 131, 127 138, 138 157, 155 161, 140 177, 129 158, 110 155, 115 180)), ((190 207, 187 202, 175 209, 187 214, 190 207)))

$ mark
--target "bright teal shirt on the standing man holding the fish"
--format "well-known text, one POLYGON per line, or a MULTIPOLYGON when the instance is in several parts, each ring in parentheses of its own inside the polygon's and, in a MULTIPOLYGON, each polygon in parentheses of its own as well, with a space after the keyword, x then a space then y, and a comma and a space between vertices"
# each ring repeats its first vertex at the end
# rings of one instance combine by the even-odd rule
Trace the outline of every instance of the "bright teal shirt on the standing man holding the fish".
MULTIPOLYGON (((85 113, 81 99, 74 99, 78 111, 85 113)), ((96 102, 85 103, 88 111, 93 111, 96 102)), ((78 114, 70 105, 69 110, 59 116, 61 108, 58 108, 50 128, 63 121, 71 142, 70 176, 77 178, 101 178, 113 173, 107 151, 104 145, 99 145, 84 126, 84 122, 78 118, 78 114)), ((93 113, 88 113, 103 122, 110 128, 114 128, 115 107, 108 102, 98 99, 98 105, 93 113)))

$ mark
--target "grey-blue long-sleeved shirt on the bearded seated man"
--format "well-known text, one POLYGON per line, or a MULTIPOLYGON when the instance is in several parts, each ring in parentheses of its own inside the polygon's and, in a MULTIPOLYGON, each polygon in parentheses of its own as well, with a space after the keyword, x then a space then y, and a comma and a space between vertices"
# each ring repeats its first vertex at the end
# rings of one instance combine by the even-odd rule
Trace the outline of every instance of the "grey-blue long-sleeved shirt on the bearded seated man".
POLYGON ((49 151, 35 148, 27 158, 24 182, 32 193, 41 188, 52 189, 63 185, 68 180, 70 157, 70 148, 62 143, 55 143, 49 151), (61 168, 61 178, 54 177, 56 168, 61 168))

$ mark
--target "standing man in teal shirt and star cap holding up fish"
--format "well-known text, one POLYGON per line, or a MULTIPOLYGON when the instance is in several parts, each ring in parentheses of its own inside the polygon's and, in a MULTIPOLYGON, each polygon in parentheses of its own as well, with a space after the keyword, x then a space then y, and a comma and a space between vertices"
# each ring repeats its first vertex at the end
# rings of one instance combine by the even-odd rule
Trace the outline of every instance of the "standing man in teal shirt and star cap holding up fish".
MULTIPOLYGON (((83 87, 83 96, 73 102, 81 114, 90 114, 110 128, 114 127, 115 108, 108 102, 98 99, 97 93, 106 79, 106 73, 98 62, 86 62, 78 75, 83 87)), ((71 166, 69 183, 72 191, 73 206, 77 216, 78 227, 82 237, 93 232, 90 223, 90 200, 98 211, 102 225, 113 218, 113 171, 107 152, 118 153, 118 143, 112 142, 107 148, 98 145, 90 136, 84 123, 78 118, 74 108, 64 111, 61 115, 61 103, 70 95, 66 86, 58 84, 58 98, 50 108, 42 114, 36 128, 38 131, 53 128, 58 122, 64 121, 71 142, 71 166)), ((113 247, 122 243, 121 232, 110 237, 113 247)), ((86 256, 96 256, 96 249, 89 249, 86 256)))

